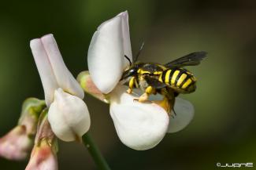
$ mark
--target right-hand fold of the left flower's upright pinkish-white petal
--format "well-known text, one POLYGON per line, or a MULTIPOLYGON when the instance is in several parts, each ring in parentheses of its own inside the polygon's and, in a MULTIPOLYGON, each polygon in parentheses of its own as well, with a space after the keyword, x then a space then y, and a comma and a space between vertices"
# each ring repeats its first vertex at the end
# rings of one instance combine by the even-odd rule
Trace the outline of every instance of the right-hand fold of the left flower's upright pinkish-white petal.
POLYGON ((72 76, 68 68, 62 59, 61 52, 58 49, 57 42, 54 39, 53 34, 47 34, 41 38, 43 46, 46 49, 46 53, 49 57, 51 67, 54 71, 56 80, 59 87, 64 89, 65 92, 69 92, 72 95, 78 96, 83 99, 83 89, 80 88, 76 78, 72 76))

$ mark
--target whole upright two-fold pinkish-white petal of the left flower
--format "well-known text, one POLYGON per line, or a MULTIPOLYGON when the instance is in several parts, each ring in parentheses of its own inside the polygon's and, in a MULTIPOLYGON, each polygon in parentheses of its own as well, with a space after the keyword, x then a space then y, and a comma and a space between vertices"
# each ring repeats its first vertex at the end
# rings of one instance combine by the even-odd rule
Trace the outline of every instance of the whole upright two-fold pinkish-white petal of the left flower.
POLYGON ((58 88, 83 99, 83 89, 65 66, 53 34, 33 39, 30 47, 43 84, 47 107, 54 101, 54 91, 58 88))

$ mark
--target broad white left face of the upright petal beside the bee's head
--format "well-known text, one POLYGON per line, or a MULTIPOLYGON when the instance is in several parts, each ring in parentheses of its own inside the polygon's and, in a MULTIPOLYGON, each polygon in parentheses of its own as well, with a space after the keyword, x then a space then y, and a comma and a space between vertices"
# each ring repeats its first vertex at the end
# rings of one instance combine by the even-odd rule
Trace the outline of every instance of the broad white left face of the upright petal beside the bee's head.
POLYGON ((88 68, 98 89, 109 93, 121 79, 124 67, 122 16, 98 27, 88 49, 88 68))

